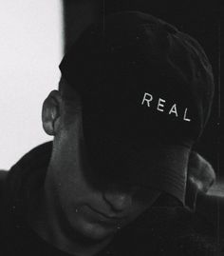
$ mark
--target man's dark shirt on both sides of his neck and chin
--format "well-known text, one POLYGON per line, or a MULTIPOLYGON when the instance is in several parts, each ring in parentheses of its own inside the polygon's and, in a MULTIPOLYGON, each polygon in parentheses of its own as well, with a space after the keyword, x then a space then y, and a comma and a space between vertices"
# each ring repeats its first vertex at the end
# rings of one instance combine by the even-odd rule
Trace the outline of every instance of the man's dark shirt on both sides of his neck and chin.
MULTIPOLYGON (((28 203, 44 185, 52 144, 32 149, 7 175, 1 198, 0 255, 68 256, 27 222, 28 203)), ((96 256, 219 256, 214 226, 163 195, 96 256)))

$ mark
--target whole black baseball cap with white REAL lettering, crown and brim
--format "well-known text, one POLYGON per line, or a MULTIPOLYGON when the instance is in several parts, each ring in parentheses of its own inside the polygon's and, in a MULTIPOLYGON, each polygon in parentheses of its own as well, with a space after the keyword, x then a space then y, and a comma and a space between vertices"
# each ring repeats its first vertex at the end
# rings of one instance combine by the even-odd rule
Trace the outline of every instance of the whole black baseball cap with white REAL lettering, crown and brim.
POLYGON ((117 12, 84 30, 60 69, 82 97, 92 167, 184 204, 189 152, 214 96, 197 41, 152 15, 117 12))

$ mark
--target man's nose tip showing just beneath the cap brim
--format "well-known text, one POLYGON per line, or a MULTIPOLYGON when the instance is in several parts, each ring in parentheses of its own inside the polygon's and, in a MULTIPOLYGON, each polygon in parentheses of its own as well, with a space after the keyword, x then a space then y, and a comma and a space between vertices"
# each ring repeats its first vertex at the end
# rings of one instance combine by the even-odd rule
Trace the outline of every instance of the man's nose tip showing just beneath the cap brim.
POLYGON ((120 186, 108 186, 103 191, 103 198, 117 212, 123 212, 132 206, 133 189, 120 186))

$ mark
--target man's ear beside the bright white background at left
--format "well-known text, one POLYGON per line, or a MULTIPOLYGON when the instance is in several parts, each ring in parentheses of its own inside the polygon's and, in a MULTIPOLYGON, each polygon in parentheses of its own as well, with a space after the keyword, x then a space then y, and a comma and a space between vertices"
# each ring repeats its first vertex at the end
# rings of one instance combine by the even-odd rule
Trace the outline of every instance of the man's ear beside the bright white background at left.
POLYGON ((58 90, 52 90, 42 108, 42 123, 48 135, 55 135, 60 126, 60 107, 62 96, 58 90))

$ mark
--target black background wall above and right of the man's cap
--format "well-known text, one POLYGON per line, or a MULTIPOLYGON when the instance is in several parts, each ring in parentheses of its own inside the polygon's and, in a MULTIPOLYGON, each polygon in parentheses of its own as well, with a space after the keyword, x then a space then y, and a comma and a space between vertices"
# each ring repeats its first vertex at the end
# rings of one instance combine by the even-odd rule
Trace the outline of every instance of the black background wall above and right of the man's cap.
MULTIPOLYGON (((149 1, 149 0, 64 0, 65 49, 87 27, 104 14, 119 10, 140 10, 153 14, 195 37, 207 53, 215 74, 215 101, 211 119, 195 149, 205 156, 224 177, 221 157, 219 61, 220 7, 215 1, 149 1)), ((222 101, 223 102, 223 101, 222 101)))

